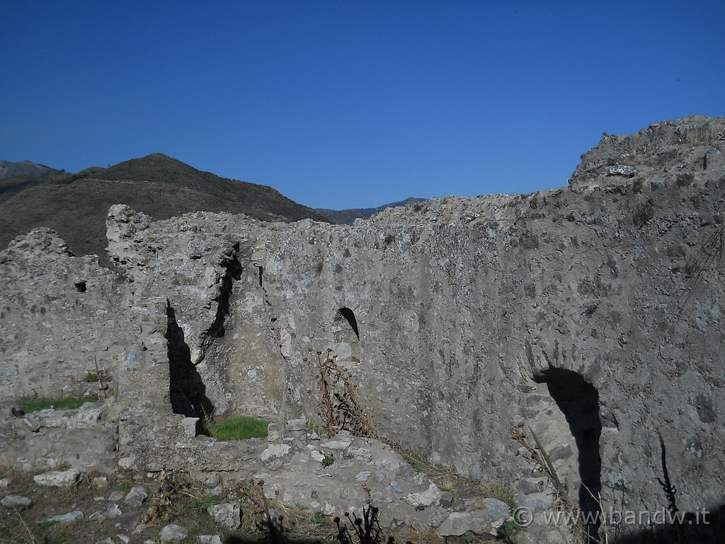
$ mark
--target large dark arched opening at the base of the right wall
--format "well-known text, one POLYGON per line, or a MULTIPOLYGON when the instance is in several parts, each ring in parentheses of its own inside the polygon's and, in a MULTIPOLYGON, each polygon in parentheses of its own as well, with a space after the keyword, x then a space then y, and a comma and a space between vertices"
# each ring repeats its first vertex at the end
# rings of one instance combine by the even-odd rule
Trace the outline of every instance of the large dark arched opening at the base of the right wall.
MULTIPOLYGON (((602 490, 602 456, 599 439, 602 434, 599 392, 581 374, 565 368, 548 368, 537 376, 537 382, 546 382, 549 394, 564 414, 569 430, 579 451, 579 508, 584 519, 597 519, 597 498, 602 490)), ((587 526, 587 538, 599 542, 600 524, 587 526)))

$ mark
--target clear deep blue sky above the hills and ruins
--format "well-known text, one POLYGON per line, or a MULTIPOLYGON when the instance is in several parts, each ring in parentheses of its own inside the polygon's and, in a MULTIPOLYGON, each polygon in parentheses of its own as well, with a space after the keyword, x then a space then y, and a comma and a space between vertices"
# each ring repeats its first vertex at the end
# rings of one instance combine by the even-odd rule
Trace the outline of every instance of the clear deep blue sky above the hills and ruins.
POLYGON ((723 1, 0 0, 0 159, 162 152, 312 207, 564 186, 725 115, 723 1))

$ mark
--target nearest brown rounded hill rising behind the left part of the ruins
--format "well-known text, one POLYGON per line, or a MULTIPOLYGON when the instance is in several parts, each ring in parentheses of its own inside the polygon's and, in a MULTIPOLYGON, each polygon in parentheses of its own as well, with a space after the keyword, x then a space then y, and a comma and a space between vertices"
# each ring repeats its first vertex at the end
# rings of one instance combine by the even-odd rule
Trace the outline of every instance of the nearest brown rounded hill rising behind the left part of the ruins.
MULTIPOLYGON (((46 167, 47 168, 47 167, 46 167)), ((166 219, 194 211, 244 213, 262 221, 329 221, 268 186, 220 178, 154 153, 109 168, 88 168, 0 202, 0 247, 38 226, 58 231, 73 252, 107 263, 106 214, 114 204, 166 219)))

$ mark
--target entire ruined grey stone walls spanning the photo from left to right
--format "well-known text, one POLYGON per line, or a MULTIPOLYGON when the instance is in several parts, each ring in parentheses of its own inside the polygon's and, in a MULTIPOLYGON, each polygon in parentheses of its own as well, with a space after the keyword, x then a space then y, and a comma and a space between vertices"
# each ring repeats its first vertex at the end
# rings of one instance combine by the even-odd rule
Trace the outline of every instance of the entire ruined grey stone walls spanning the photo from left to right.
MULTIPOLYGON (((512 482, 534 510, 550 495, 514 429, 552 453, 585 508, 581 480, 615 506, 663 506, 661 434, 679 507, 712 510, 725 490, 724 144, 722 118, 655 123, 605 135, 566 188, 434 199, 353 226, 154 222, 118 205, 116 272, 33 231, 0 252, 0 392, 83 390, 96 357, 117 388, 120 466, 241 477, 262 463, 287 490, 287 429, 260 450, 195 439, 188 420, 314 420, 313 354, 329 347, 381 437, 512 482)), ((334 458, 350 448, 328 442, 334 458)))

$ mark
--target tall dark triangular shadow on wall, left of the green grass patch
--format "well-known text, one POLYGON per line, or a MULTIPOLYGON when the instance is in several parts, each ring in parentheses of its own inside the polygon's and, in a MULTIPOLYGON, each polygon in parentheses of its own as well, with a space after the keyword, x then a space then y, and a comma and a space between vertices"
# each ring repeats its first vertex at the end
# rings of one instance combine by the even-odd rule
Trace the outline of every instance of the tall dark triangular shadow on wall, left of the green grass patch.
POLYGON ((176 322, 176 312, 168 302, 166 317, 171 409, 186 417, 206 419, 214 412, 214 405, 206 395, 202 376, 191 363, 191 350, 184 341, 183 329, 176 322))

